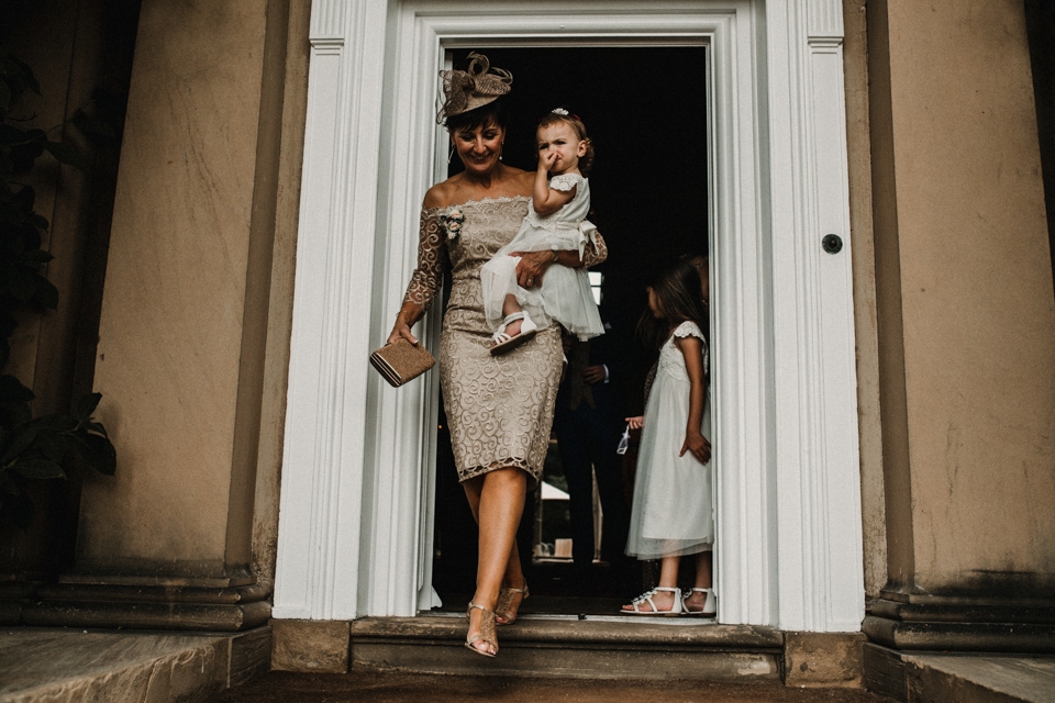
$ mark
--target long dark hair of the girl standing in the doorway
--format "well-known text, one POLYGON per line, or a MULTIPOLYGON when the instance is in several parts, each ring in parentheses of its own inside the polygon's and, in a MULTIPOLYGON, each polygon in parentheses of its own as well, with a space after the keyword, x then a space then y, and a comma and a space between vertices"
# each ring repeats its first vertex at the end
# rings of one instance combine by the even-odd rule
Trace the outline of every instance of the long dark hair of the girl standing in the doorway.
POLYGON ((649 277, 647 286, 659 303, 663 319, 657 320, 647 309, 642 314, 637 334, 645 344, 659 348, 675 327, 689 321, 697 324, 710 347, 710 322, 700 292, 700 274, 691 261, 679 258, 659 268, 649 277))

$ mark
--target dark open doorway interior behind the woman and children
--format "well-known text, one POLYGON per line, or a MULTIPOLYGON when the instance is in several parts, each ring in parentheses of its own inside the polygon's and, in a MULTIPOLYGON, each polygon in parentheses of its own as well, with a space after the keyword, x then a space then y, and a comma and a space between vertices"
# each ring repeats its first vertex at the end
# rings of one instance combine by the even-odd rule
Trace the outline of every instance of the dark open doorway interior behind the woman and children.
MULTIPOLYGON (((464 68, 470 49, 456 49, 464 68)), ((684 254, 708 254, 707 49, 686 47, 486 48, 492 66, 513 74, 504 161, 534 170, 535 125, 553 108, 579 115, 595 143, 590 172, 592 214, 609 245, 601 274, 601 312, 611 328, 603 337, 619 356, 611 377, 613 416, 641 414, 651 353, 634 336, 646 309, 644 281, 656 264, 684 254)), ((460 170, 457 159, 449 174, 460 170)), ((558 411, 559 412, 559 411, 558 411)), ((442 417, 437 447, 433 583, 444 610, 464 609, 476 576, 476 525, 457 482, 449 436, 442 417)), ((614 451, 622 426, 614 431, 614 451)), ((544 480, 567 490, 562 453, 551 442, 544 480)), ((633 482, 633 449, 621 459, 623 494, 633 482)), ((553 494, 553 491, 549 490, 553 494)), ((629 507, 629 505, 628 505, 629 507)), ((609 538, 599 558, 576 567, 567 539, 568 510, 529 496, 519 544, 532 598, 523 613, 614 614, 620 600, 641 590, 637 565, 619 563, 623 545, 609 538), (562 532, 563 531, 563 532, 562 532), (540 538, 545 545, 540 547, 540 538), (529 558, 533 555, 533 558, 529 558), (614 566, 613 566, 614 565, 614 566)), ((610 537, 610 535, 609 535, 610 537)), ((580 561, 579 559, 577 559, 580 561)))

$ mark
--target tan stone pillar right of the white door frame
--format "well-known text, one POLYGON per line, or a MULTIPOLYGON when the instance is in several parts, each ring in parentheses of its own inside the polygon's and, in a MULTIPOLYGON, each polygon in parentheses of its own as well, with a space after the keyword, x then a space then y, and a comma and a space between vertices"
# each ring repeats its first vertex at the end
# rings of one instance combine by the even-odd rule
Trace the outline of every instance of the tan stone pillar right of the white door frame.
POLYGON ((1021 2, 868 4, 888 594, 1055 587, 1055 295, 1021 2))

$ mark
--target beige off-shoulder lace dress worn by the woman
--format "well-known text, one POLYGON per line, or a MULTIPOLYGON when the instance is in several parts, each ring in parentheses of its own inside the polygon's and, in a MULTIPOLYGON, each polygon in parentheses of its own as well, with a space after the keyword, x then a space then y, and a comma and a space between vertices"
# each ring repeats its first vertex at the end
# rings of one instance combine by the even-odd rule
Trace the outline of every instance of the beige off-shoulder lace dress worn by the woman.
MULTIPOLYGON (((528 197, 470 200, 421 212, 418 268, 404 301, 425 309, 451 271, 451 299, 440 338, 440 382, 458 479, 518 467, 542 476, 563 361, 557 326, 502 356, 491 356, 480 268, 520 230, 528 197), (452 224, 454 223, 454 224, 452 224)), ((584 264, 608 256, 598 236, 584 264)))

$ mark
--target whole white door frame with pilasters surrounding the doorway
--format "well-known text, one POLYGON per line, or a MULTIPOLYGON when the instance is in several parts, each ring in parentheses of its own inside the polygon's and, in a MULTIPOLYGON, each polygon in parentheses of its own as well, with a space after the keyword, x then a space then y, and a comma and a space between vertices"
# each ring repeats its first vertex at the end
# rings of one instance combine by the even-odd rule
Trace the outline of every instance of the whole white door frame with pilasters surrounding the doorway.
POLYGON ((709 47, 720 620, 859 629, 839 0, 313 2, 274 616, 433 604, 437 375, 393 390, 366 357, 444 171, 444 49, 552 42, 709 47))

